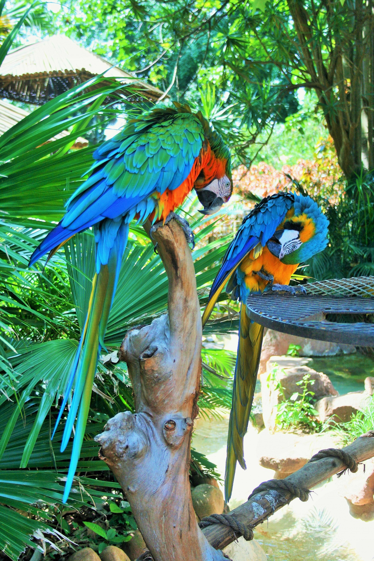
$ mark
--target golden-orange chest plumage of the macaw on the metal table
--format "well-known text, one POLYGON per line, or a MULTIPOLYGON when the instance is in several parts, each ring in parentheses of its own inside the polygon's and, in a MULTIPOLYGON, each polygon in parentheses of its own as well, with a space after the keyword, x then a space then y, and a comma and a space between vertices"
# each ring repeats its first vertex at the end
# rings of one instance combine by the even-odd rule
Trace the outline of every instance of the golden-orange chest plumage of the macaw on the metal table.
POLYGON ((256 272, 261 271, 266 275, 273 275, 274 284, 289 284, 291 275, 298 268, 297 265, 286 265, 282 263, 278 257, 270 253, 269 249, 265 246, 262 254, 253 259, 253 250, 245 257, 240 265, 244 273, 244 282, 247 288, 251 291, 264 291, 268 280, 259 277, 256 272))

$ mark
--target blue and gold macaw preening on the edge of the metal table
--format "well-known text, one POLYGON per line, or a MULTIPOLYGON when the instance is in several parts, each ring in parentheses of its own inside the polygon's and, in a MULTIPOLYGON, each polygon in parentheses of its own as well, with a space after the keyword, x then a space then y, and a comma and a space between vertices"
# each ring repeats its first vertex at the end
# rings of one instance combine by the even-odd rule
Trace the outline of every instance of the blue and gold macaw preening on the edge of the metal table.
POLYGON ((202 316, 203 326, 225 284, 226 292, 232 292, 232 299, 241 302, 227 443, 227 501, 232 493, 237 461, 246 469, 243 437, 250 419, 264 332, 262 325, 248 318, 247 298, 269 289, 305 292, 304 287, 288 286, 291 275, 299 263, 325 249, 328 225, 329 221, 309 196, 277 193, 266 197, 244 218, 211 287, 202 316))

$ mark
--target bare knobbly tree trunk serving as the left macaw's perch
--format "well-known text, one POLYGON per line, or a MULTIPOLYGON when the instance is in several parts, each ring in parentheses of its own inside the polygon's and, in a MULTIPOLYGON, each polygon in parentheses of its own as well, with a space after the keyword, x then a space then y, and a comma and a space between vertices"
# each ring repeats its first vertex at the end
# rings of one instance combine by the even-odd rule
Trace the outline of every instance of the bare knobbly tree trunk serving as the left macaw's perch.
POLYGON ((169 279, 169 312, 124 338, 119 357, 127 362, 136 413, 119 413, 95 440, 155 561, 222 561, 197 526, 188 477, 201 375, 195 269, 175 220, 153 237, 169 279))

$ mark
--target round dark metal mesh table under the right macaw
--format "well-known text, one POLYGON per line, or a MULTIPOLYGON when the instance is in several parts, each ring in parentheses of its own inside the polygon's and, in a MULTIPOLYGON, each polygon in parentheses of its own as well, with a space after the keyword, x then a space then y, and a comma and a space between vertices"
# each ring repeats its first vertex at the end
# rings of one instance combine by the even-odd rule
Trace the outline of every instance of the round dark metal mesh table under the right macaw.
POLYGON ((247 314, 265 327, 298 337, 374 347, 374 277, 326 280, 305 288, 306 295, 251 295, 247 314))

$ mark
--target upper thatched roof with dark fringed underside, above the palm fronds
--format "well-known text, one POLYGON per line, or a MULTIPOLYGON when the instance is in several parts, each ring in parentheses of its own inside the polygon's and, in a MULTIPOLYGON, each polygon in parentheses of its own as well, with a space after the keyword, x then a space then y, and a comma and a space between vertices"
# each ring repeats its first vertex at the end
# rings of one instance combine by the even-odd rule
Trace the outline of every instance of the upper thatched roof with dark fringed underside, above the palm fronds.
POLYGON ((158 88, 135 79, 104 58, 84 49, 64 35, 12 50, 0 67, 0 98, 41 105, 77 84, 105 72, 123 84, 139 86, 148 99, 162 95, 158 88))

